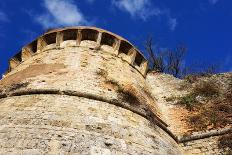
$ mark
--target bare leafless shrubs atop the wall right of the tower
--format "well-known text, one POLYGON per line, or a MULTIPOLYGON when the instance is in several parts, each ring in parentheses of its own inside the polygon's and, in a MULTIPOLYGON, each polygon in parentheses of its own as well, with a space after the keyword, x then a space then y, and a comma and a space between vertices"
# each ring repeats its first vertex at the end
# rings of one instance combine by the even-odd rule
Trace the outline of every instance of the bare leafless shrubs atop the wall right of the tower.
POLYGON ((187 47, 184 44, 179 44, 175 49, 161 51, 153 43, 152 37, 148 37, 145 41, 145 49, 151 63, 151 70, 171 74, 177 78, 184 78, 188 75, 205 76, 219 72, 219 63, 209 64, 200 61, 184 66, 187 53, 187 47))

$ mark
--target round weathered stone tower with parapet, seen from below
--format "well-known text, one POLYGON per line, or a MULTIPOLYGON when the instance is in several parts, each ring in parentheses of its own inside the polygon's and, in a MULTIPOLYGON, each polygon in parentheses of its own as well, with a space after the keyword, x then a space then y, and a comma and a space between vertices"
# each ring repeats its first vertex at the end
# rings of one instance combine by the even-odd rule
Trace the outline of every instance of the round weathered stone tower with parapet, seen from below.
POLYGON ((45 33, 0 81, 0 154, 181 154, 127 40, 93 27, 45 33))

